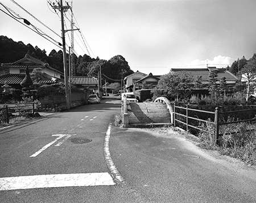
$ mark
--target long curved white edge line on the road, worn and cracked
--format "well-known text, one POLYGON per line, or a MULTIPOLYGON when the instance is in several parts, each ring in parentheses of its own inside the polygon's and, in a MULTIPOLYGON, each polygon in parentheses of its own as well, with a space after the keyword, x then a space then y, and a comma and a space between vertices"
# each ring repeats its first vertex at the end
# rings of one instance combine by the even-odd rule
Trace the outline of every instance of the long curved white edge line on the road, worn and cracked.
POLYGON ((124 181, 123 177, 121 176, 121 174, 119 173, 119 171, 117 170, 117 168, 115 167, 115 164, 112 160, 112 157, 110 155, 110 151, 109 151, 109 139, 110 139, 110 130, 111 130, 111 123, 109 124, 108 130, 106 132, 106 136, 105 136, 105 141, 104 141, 104 157, 106 160, 106 164, 108 165, 108 168, 111 172, 111 174, 114 177, 114 180, 117 183, 122 183, 124 181))

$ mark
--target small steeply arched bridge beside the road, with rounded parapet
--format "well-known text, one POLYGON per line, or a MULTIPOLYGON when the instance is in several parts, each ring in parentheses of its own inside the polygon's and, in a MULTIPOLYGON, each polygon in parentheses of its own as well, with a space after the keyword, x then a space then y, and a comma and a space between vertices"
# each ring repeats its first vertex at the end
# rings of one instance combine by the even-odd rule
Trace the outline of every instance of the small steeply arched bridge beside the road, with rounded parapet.
POLYGON ((167 98, 157 98, 155 102, 130 103, 122 105, 122 126, 124 128, 143 125, 172 124, 172 106, 167 98))

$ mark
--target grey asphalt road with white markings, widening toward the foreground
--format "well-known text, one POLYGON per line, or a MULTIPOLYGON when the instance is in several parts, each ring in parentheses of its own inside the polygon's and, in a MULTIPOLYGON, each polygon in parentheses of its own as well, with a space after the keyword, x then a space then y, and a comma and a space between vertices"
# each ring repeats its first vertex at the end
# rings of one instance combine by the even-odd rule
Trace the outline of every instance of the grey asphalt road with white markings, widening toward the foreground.
POLYGON ((120 110, 109 97, 0 129, 0 202, 256 202, 255 168, 119 128, 120 110))

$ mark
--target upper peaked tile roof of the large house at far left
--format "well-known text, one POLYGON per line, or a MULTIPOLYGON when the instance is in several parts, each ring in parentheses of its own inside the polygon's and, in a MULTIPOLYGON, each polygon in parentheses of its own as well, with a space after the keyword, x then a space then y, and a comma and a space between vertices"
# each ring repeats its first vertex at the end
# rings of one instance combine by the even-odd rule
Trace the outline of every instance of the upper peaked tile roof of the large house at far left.
POLYGON ((18 61, 1 64, 1 66, 2 66, 2 69, 5 69, 5 70, 13 69, 13 68, 25 69, 27 66, 28 66, 28 68, 31 68, 31 69, 40 67, 40 68, 47 68, 47 69, 56 71, 56 72, 60 73, 61 75, 64 74, 63 72, 56 70, 55 68, 49 66, 49 64, 47 64, 46 62, 40 61, 40 60, 30 56, 29 54, 26 54, 24 56, 24 58, 22 58, 18 61))

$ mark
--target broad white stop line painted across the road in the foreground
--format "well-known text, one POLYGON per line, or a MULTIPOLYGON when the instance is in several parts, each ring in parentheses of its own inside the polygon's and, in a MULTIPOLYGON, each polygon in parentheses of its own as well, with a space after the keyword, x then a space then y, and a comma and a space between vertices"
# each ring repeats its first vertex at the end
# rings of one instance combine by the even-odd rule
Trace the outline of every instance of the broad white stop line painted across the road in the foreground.
POLYGON ((108 172, 90 174, 51 174, 19 177, 1 177, 0 191, 13 189, 81 187, 115 185, 108 172))

